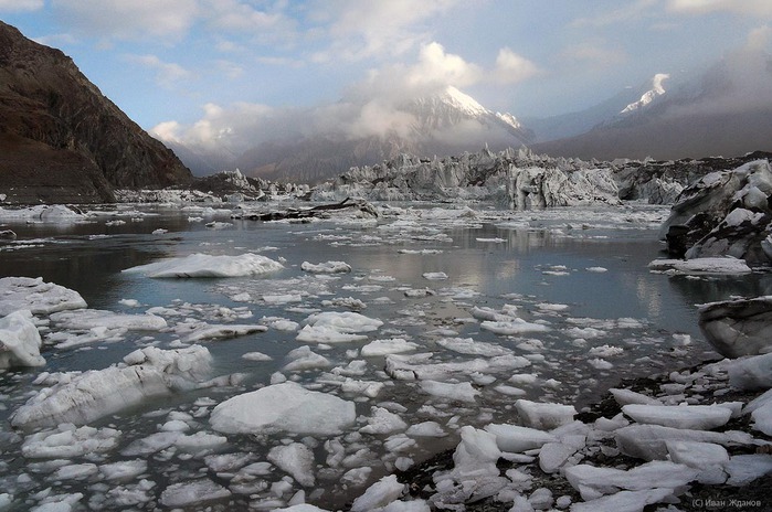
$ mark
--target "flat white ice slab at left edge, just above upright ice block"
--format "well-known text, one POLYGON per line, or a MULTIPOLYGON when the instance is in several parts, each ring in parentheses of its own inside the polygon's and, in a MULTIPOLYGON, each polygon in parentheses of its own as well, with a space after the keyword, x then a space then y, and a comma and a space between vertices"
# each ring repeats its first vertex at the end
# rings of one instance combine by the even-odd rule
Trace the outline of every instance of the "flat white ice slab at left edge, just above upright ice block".
POLYGON ((43 278, 3 277, 0 279, 0 316, 19 309, 28 309, 32 314, 50 314, 67 309, 86 307, 86 301, 77 291, 43 278))

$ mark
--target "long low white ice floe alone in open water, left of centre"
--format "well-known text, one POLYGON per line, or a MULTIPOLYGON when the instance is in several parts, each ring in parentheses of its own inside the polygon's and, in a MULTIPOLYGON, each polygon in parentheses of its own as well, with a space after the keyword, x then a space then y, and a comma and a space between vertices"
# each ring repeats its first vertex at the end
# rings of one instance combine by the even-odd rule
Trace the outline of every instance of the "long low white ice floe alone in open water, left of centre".
POLYGON ((245 277, 277 271, 284 268, 278 262, 246 253, 239 256, 212 256, 191 254, 147 265, 127 268, 125 273, 144 274, 152 278, 167 277, 245 277))

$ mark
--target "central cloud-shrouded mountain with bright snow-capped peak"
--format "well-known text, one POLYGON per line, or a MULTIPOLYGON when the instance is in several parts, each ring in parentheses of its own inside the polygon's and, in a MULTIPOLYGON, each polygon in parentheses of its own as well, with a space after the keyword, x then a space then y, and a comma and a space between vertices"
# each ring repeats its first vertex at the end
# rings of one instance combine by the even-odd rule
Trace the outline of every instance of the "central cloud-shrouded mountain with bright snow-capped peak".
MULTIPOLYGON (((352 108, 366 108, 353 105, 352 108)), ((310 136, 279 138, 246 149, 241 154, 197 150, 179 141, 165 141, 197 174, 239 168, 253 178, 318 182, 355 166, 392 159, 400 153, 455 154, 477 150, 520 147, 532 134, 511 114, 491 111, 455 87, 396 105, 403 125, 379 135, 352 136, 331 129, 310 136)))

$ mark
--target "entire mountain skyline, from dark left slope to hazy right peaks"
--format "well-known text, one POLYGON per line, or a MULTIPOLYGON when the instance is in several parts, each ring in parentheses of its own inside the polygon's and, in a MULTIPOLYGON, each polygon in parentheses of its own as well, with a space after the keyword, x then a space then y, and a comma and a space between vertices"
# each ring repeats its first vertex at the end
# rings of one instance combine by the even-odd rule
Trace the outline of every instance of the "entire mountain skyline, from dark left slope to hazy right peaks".
POLYGON ((692 77, 657 74, 592 108, 546 119, 522 121, 446 87, 399 102, 349 97, 295 110, 289 122, 274 119, 271 137, 243 130, 235 142, 224 130, 222 141, 204 146, 154 139, 70 57, 0 22, 0 201, 17 202, 110 201, 115 188, 189 183, 188 168, 315 183, 403 153, 484 147, 585 160, 739 156, 772 150, 772 57, 741 50, 692 77))

